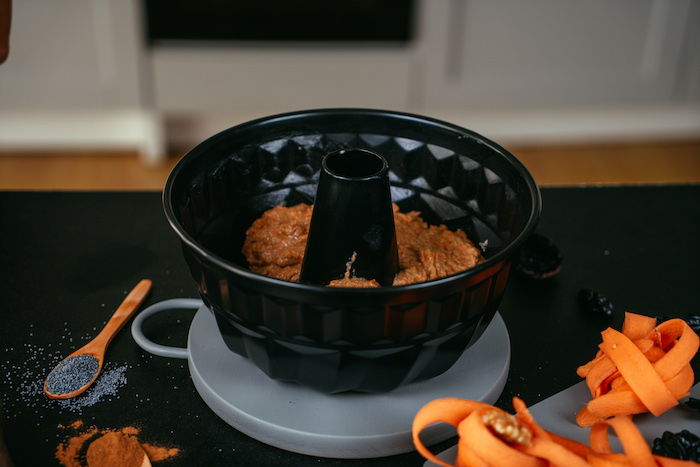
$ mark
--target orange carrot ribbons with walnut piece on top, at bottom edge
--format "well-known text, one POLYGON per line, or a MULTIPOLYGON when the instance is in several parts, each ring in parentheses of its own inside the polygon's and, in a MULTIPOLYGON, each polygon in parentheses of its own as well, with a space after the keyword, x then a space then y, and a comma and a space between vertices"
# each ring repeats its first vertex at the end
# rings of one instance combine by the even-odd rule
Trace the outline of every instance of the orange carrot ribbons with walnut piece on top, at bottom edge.
POLYGON ((591 428, 590 446, 551 433, 540 427, 519 398, 513 399, 516 415, 482 402, 457 398, 436 399, 421 408, 413 422, 413 443, 426 459, 443 467, 452 464, 439 459, 420 439, 428 426, 443 422, 457 428, 459 435, 456 467, 524 466, 689 466, 651 453, 631 417, 615 416, 591 428), (608 440, 611 426, 625 454, 613 453, 608 440))

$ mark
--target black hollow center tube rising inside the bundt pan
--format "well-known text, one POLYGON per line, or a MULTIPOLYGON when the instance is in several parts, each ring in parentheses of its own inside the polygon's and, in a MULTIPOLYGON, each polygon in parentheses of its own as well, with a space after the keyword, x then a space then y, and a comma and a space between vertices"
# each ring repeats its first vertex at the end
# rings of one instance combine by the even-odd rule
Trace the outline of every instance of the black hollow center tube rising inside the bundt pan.
POLYGON ((364 149, 341 149, 321 162, 301 282, 328 285, 346 272, 382 286, 399 272, 389 166, 364 149))

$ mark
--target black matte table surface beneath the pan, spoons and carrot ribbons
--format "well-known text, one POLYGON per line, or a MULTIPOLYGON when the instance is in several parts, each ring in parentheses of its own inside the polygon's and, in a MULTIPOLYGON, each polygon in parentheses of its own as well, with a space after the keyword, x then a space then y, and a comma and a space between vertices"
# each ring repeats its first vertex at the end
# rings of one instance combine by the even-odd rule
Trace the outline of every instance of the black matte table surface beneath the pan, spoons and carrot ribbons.
MULTIPOLYGON (((542 196, 538 231, 557 243, 564 263, 547 280, 511 277, 500 307, 511 366, 497 402, 507 410, 513 396, 533 405, 579 382, 576 367, 592 358, 602 330, 620 328, 625 311, 700 312, 700 185, 544 188, 542 196), (580 306, 584 287, 613 302, 612 318, 580 306)), ((184 361, 145 353, 128 328, 108 351, 108 360, 127 365, 127 382, 116 395, 72 411, 37 394, 32 384, 43 382, 51 356, 65 356, 94 337, 140 279, 153 281, 146 305, 197 297, 159 192, 0 192, 0 265, 0 423, 17 466, 60 465, 56 449, 76 421, 99 429, 138 427, 143 442, 180 449, 156 465, 424 462, 415 452, 315 458, 255 441, 207 407, 184 361)), ((149 336, 184 346, 190 316, 154 323, 149 336)), ((697 357, 693 365, 697 374, 697 357)))

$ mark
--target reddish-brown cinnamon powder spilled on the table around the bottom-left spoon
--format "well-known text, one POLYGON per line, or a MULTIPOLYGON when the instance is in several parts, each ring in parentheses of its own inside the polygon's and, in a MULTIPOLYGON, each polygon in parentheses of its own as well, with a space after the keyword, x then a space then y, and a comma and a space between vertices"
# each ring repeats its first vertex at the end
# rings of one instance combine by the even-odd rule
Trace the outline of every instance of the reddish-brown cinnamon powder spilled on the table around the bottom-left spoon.
MULTIPOLYGON (((81 420, 77 420, 68 426, 59 425, 59 428, 71 431, 71 435, 56 448, 56 459, 64 467, 86 467, 88 465, 87 450, 90 444, 107 434, 110 434, 110 437, 115 435, 126 436, 136 441, 138 441, 139 434, 139 429, 133 426, 121 429, 98 429, 95 426, 85 426, 81 420)), ((158 446, 141 443, 140 441, 139 444, 151 462, 169 459, 180 453, 180 450, 174 447, 158 446)))

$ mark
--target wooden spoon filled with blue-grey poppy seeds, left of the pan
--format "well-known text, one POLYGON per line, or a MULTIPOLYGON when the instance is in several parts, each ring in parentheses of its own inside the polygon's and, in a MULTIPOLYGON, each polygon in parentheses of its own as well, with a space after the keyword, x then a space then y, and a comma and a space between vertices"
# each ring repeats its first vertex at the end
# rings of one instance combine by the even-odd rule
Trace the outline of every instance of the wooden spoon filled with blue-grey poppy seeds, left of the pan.
POLYGON ((44 393, 49 398, 70 399, 90 387, 102 370, 107 346, 138 310, 150 290, 150 280, 139 282, 97 337, 56 365, 44 382, 44 393))

